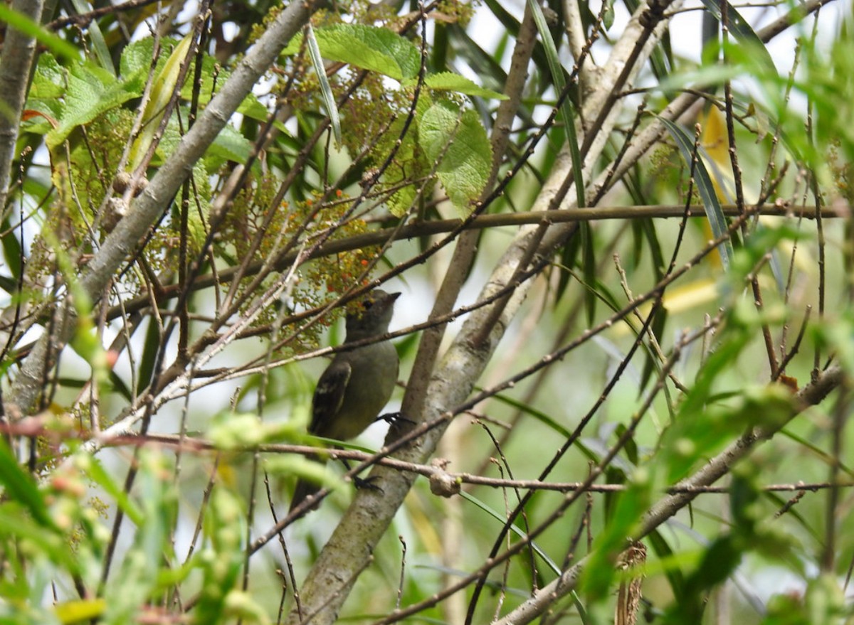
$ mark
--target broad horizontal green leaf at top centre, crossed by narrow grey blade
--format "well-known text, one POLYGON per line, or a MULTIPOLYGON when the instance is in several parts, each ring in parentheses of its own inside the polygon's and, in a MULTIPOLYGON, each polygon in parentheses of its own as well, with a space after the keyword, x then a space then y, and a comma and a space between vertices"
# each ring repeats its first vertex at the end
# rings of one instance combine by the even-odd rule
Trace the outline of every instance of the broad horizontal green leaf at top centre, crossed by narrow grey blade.
MULTIPOLYGON (((421 67, 418 49, 388 28, 335 24, 315 29, 314 35, 320 54, 330 61, 349 63, 401 81, 417 76, 421 67)), ((283 54, 296 54, 301 46, 302 36, 298 35, 290 40, 283 54)))

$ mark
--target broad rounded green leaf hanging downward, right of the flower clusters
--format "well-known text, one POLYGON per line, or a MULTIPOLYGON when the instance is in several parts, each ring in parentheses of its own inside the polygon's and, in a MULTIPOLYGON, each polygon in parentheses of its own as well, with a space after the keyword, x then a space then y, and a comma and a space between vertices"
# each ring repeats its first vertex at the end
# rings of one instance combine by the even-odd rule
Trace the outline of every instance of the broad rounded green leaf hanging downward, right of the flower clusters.
POLYGON ((418 143, 454 207, 468 213, 483 192, 492 166, 492 147, 477 113, 448 100, 427 109, 418 124, 418 143))

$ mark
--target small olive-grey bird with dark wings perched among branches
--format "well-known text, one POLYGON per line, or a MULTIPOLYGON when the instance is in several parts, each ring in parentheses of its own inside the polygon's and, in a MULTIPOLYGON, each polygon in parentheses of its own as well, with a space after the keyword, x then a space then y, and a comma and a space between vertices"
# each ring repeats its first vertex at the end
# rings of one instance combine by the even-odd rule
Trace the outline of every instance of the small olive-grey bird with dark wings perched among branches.
MULTIPOLYGON (((400 295, 380 289, 371 291, 360 302, 360 310, 347 315, 344 345, 388 332, 395 300, 400 295)), ((308 433, 338 441, 360 435, 389 402, 399 365, 397 350, 387 341, 336 353, 314 389, 308 433)), ((320 462, 317 456, 311 459, 320 462)), ((319 489, 315 482, 296 482, 290 510, 319 489)))

